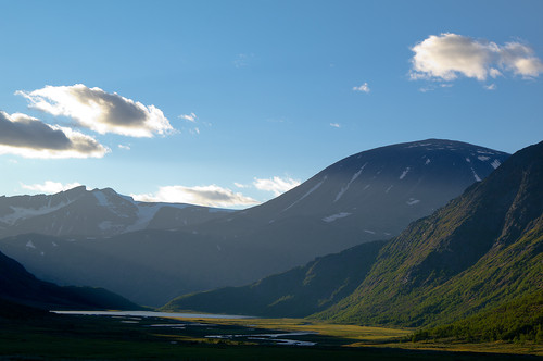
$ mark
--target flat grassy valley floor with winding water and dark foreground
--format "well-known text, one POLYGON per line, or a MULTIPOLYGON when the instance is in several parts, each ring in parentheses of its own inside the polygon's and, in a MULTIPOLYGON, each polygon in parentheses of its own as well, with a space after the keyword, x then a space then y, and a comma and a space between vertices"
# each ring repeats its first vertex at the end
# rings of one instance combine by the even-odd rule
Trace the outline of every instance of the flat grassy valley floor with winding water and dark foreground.
POLYGON ((439 358, 495 361, 534 360, 539 359, 538 354, 543 356, 541 346, 528 344, 437 345, 394 341, 409 333, 408 329, 336 325, 293 319, 176 320, 50 315, 26 321, 0 320, 0 360, 439 358), (509 352, 529 354, 507 354, 509 352))

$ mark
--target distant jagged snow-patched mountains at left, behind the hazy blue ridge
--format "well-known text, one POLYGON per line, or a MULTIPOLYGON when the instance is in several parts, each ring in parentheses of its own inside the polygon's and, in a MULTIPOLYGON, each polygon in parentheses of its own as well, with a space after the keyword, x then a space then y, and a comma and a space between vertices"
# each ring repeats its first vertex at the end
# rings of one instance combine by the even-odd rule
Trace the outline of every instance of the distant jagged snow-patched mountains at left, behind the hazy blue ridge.
POLYGON ((0 238, 25 233, 106 237, 139 229, 198 224, 230 210, 138 202, 111 188, 76 187, 55 195, 0 197, 0 238))

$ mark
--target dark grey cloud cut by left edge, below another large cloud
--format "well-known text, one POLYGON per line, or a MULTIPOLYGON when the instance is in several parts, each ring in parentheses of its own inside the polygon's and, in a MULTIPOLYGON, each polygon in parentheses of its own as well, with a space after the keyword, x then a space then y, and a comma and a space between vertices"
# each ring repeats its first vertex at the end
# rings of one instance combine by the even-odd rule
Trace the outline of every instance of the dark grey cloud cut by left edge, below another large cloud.
POLYGON ((0 154, 25 158, 102 158, 110 150, 94 138, 22 113, 0 111, 0 154))

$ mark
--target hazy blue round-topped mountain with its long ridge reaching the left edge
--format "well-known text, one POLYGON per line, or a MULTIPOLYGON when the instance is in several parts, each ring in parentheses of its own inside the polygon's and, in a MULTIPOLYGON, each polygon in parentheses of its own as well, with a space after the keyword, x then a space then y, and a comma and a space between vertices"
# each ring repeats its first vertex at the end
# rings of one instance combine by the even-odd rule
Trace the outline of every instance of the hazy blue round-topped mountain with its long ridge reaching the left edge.
POLYGON ((345 158, 264 204, 177 231, 21 234, 2 239, 0 250, 43 279, 101 286, 141 304, 162 306, 184 294, 250 284, 395 236, 507 158, 438 139, 382 147, 345 158))

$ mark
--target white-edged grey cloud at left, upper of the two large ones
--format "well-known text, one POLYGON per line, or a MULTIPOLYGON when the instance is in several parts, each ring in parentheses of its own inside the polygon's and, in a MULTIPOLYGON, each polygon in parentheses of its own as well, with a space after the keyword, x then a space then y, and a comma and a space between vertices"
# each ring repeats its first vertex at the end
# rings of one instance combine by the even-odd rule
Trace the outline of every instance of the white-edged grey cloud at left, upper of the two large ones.
POLYGON ((18 90, 30 108, 52 115, 73 119, 79 126, 99 134, 114 133, 131 137, 152 137, 174 130, 163 112, 154 107, 83 84, 46 86, 34 91, 18 90))

